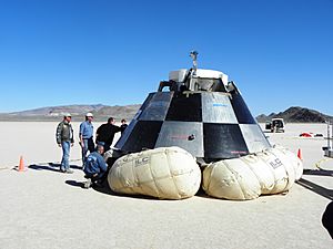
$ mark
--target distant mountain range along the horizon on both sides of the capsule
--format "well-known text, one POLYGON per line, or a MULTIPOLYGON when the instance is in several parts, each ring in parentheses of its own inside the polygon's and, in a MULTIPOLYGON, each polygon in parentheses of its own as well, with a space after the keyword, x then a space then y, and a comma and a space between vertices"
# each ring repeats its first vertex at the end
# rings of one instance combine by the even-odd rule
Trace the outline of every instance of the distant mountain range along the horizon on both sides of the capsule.
MULTIPOLYGON (((59 121, 62 118, 63 113, 71 113, 73 121, 82 121, 88 112, 93 113, 95 121, 105 121, 110 116, 115 117, 118 121, 121 118, 130 121, 133 118, 140 106, 141 105, 139 104, 124 106, 109 106, 102 104, 50 106, 22 112, 0 113, 0 121, 59 121)), ((282 117, 289 123, 324 123, 325 121, 333 122, 333 116, 299 106, 290 107, 278 114, 261 114, 256 116, 256 121, 259 123, 264 123, 274 117, 282 117)))

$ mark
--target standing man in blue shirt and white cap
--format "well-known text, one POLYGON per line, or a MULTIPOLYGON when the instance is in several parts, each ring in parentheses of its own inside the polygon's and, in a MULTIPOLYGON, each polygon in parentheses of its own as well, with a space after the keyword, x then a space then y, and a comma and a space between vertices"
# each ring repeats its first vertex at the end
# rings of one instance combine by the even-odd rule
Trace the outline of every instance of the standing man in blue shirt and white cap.
POLYGON ((80 145, 82 147, 82 168, 87 159, 87 153, 94 151, 93 144, 93 125, 92 125, 93 115, 92 113, 85 114, 85 121, 80 124, 80 145))

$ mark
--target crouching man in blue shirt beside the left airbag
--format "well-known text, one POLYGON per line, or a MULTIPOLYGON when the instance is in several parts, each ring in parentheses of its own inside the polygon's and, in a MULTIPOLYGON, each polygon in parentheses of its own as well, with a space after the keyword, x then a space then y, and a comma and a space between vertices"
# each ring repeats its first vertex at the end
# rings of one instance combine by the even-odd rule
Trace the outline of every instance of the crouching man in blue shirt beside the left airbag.
POLYGON ((87 157, 84 163, 85 178, 84 188, 90 188, 91 186, 101 187, 103 180, 107 178, 108 165, 103 158, 104 147, 102 145, 97 146, 97 152, 92 152, 87 157))

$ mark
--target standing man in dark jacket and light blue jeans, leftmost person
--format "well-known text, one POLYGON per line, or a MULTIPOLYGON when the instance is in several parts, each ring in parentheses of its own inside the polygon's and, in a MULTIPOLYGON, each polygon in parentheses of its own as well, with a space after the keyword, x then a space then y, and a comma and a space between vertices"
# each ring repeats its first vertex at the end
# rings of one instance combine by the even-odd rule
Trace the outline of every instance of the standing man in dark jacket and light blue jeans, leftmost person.
POLYGON ((73 128, 71 125, 71 114, 63 115, 63 121, 58 124, 56 138, 59 147, 62 147, 62 159, 60 165, 60 172, 71 174, 69 156, 70 148, 74 144, 73 128))

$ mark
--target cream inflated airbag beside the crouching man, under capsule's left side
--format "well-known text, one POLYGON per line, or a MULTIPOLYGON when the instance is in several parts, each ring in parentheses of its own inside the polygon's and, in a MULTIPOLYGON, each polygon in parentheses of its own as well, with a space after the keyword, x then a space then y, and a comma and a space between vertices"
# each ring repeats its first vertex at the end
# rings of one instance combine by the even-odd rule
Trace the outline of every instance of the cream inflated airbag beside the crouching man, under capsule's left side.
POLYGON ((201 170, 195 158, 179 147, 161 147, 120 157, 108 175, 113 191, 183 199, 196 194, 201 170))

